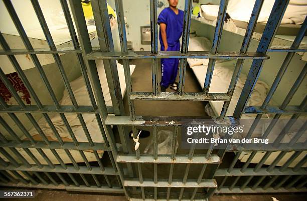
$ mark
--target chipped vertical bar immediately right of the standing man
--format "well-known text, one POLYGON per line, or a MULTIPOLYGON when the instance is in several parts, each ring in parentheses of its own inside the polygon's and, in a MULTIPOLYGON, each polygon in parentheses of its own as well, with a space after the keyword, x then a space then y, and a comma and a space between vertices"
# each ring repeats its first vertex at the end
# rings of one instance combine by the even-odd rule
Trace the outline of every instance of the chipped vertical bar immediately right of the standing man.
MULTIPOLYGON (((181 53, 188 53, 190 27, 191 27, 191 15, 192 15, 192 2, 193 2, 192 0, 185 1, 181 53)), ((184 94, 186 69, 187 69, 187 59, 180 59, 179 82, 178 82, 178 95, 180 96, 184 94)))

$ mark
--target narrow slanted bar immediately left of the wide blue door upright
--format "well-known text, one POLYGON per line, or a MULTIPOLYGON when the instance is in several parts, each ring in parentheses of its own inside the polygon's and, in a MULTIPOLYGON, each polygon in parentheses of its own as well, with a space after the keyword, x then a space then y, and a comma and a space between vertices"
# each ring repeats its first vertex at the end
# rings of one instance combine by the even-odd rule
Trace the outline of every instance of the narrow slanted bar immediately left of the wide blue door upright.
MULTIPOLYGON (((242 42, 242 46, 241 46, 241 49, 240 49, 240 54, 245 54, 248 47, 249 47, 249 44, 251 42, 253 33, 255 31, 256 24, 257 24, 257 21, 258 21, 258 17, 259 17, 259 14, 260 14, 260 11, 261 11, 261 8, 262 8, 262 5, 263 5, 263 1, 264 0, 256 0, 255 1, 255 5, 254 5, 253 11, 251 13, 249 23, 248 23, 248 26, 246 28, 245 36, 244 36, 244 39, 243 39, 243 42, 242 42)), ((236 84, 238 82, 243 63, 244 63, 244 59, 238 59, 237 62, 236 62, 236 66, 235 66, 235 69, 234 69, 234 72, 233 72, 233 75, 232 75, 232 78, 231 78, 231 81, 230 81, 230 84, 229 84, 229 87, 228 87, 228 91, 227 91, 227 94, 230 95, 230 97, 232 97, 234 89, 235 89, 236 84)), ((230 104, 230 101, 224 102, 219 119, 223 120, 225 118, 229 104, 230 104)))

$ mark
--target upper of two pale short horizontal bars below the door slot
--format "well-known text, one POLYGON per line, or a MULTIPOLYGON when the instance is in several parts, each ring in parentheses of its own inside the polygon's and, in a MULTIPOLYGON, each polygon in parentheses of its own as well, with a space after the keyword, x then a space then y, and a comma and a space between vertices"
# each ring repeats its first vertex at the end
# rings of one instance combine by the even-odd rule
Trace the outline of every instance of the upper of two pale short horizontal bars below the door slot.
POLYGON ((193 164, 216 164, 220 163, 220 157, 217 155, 211 155, 209 159, 204 155, 194 155, 190 160, 187 156, 177 155, 175 159, 172 159, 171 155, 159 155, 157 159, 154 159, 152 155, 141 155, 139 159, 135 155, 121 154, 116 158, 116 162, 122 163, 193 163, 193 164))

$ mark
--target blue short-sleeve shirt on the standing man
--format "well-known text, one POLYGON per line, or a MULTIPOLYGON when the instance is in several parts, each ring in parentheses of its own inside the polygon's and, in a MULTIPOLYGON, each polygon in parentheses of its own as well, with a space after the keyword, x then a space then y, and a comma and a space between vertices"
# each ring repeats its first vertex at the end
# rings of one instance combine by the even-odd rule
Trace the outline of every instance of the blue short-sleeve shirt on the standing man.
MULTIPOLYGON (((170 47, 179 43, 179 39, 183 31, 184 12, 178 9, 178 15, 170 8, 165 8, 158 17, 158 24, 164 23, 167 25, 167 41, 170 47)), ((161 30, 159 34, 160 44, 163 46, 161 30)))

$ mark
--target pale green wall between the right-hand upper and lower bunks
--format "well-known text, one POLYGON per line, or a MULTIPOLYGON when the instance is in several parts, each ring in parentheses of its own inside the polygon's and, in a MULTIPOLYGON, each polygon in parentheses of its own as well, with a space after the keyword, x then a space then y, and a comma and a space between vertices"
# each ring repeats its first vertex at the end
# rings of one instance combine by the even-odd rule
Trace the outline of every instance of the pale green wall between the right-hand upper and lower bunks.
MULTIPOLYGON (((203 36, 213 39, 214 27, 201 24, 198 21, 191 21, 191 32, 196 32, 197 36, 203 36)), ((219 51, 239 51, 242 45, 243 36, 236 35, 227 31, 223 31, 219 51)), ((255 52, 259 42, 252 40, 248 52, 255 52)), ((286 53, 268 53, 269 60, 265 60, 259 79, 266 82, 269 86, 272 85, 274 78, 286 56, 286 53)), ((252 61, 245 60, 242 73, 248 74, 252 61)), ((295 54, 285 72, 278 88, 275 91, 273 100, 276 104, 280 105, 287 95, 288 91, 295 82, 298 74, 301 72, 305 65, 305 61, 301 60, 301 56, 295 54)), ((307 92, 307 79, 298 88, 293 99, 289 105, 298 105, 301 103, 307 92)))

